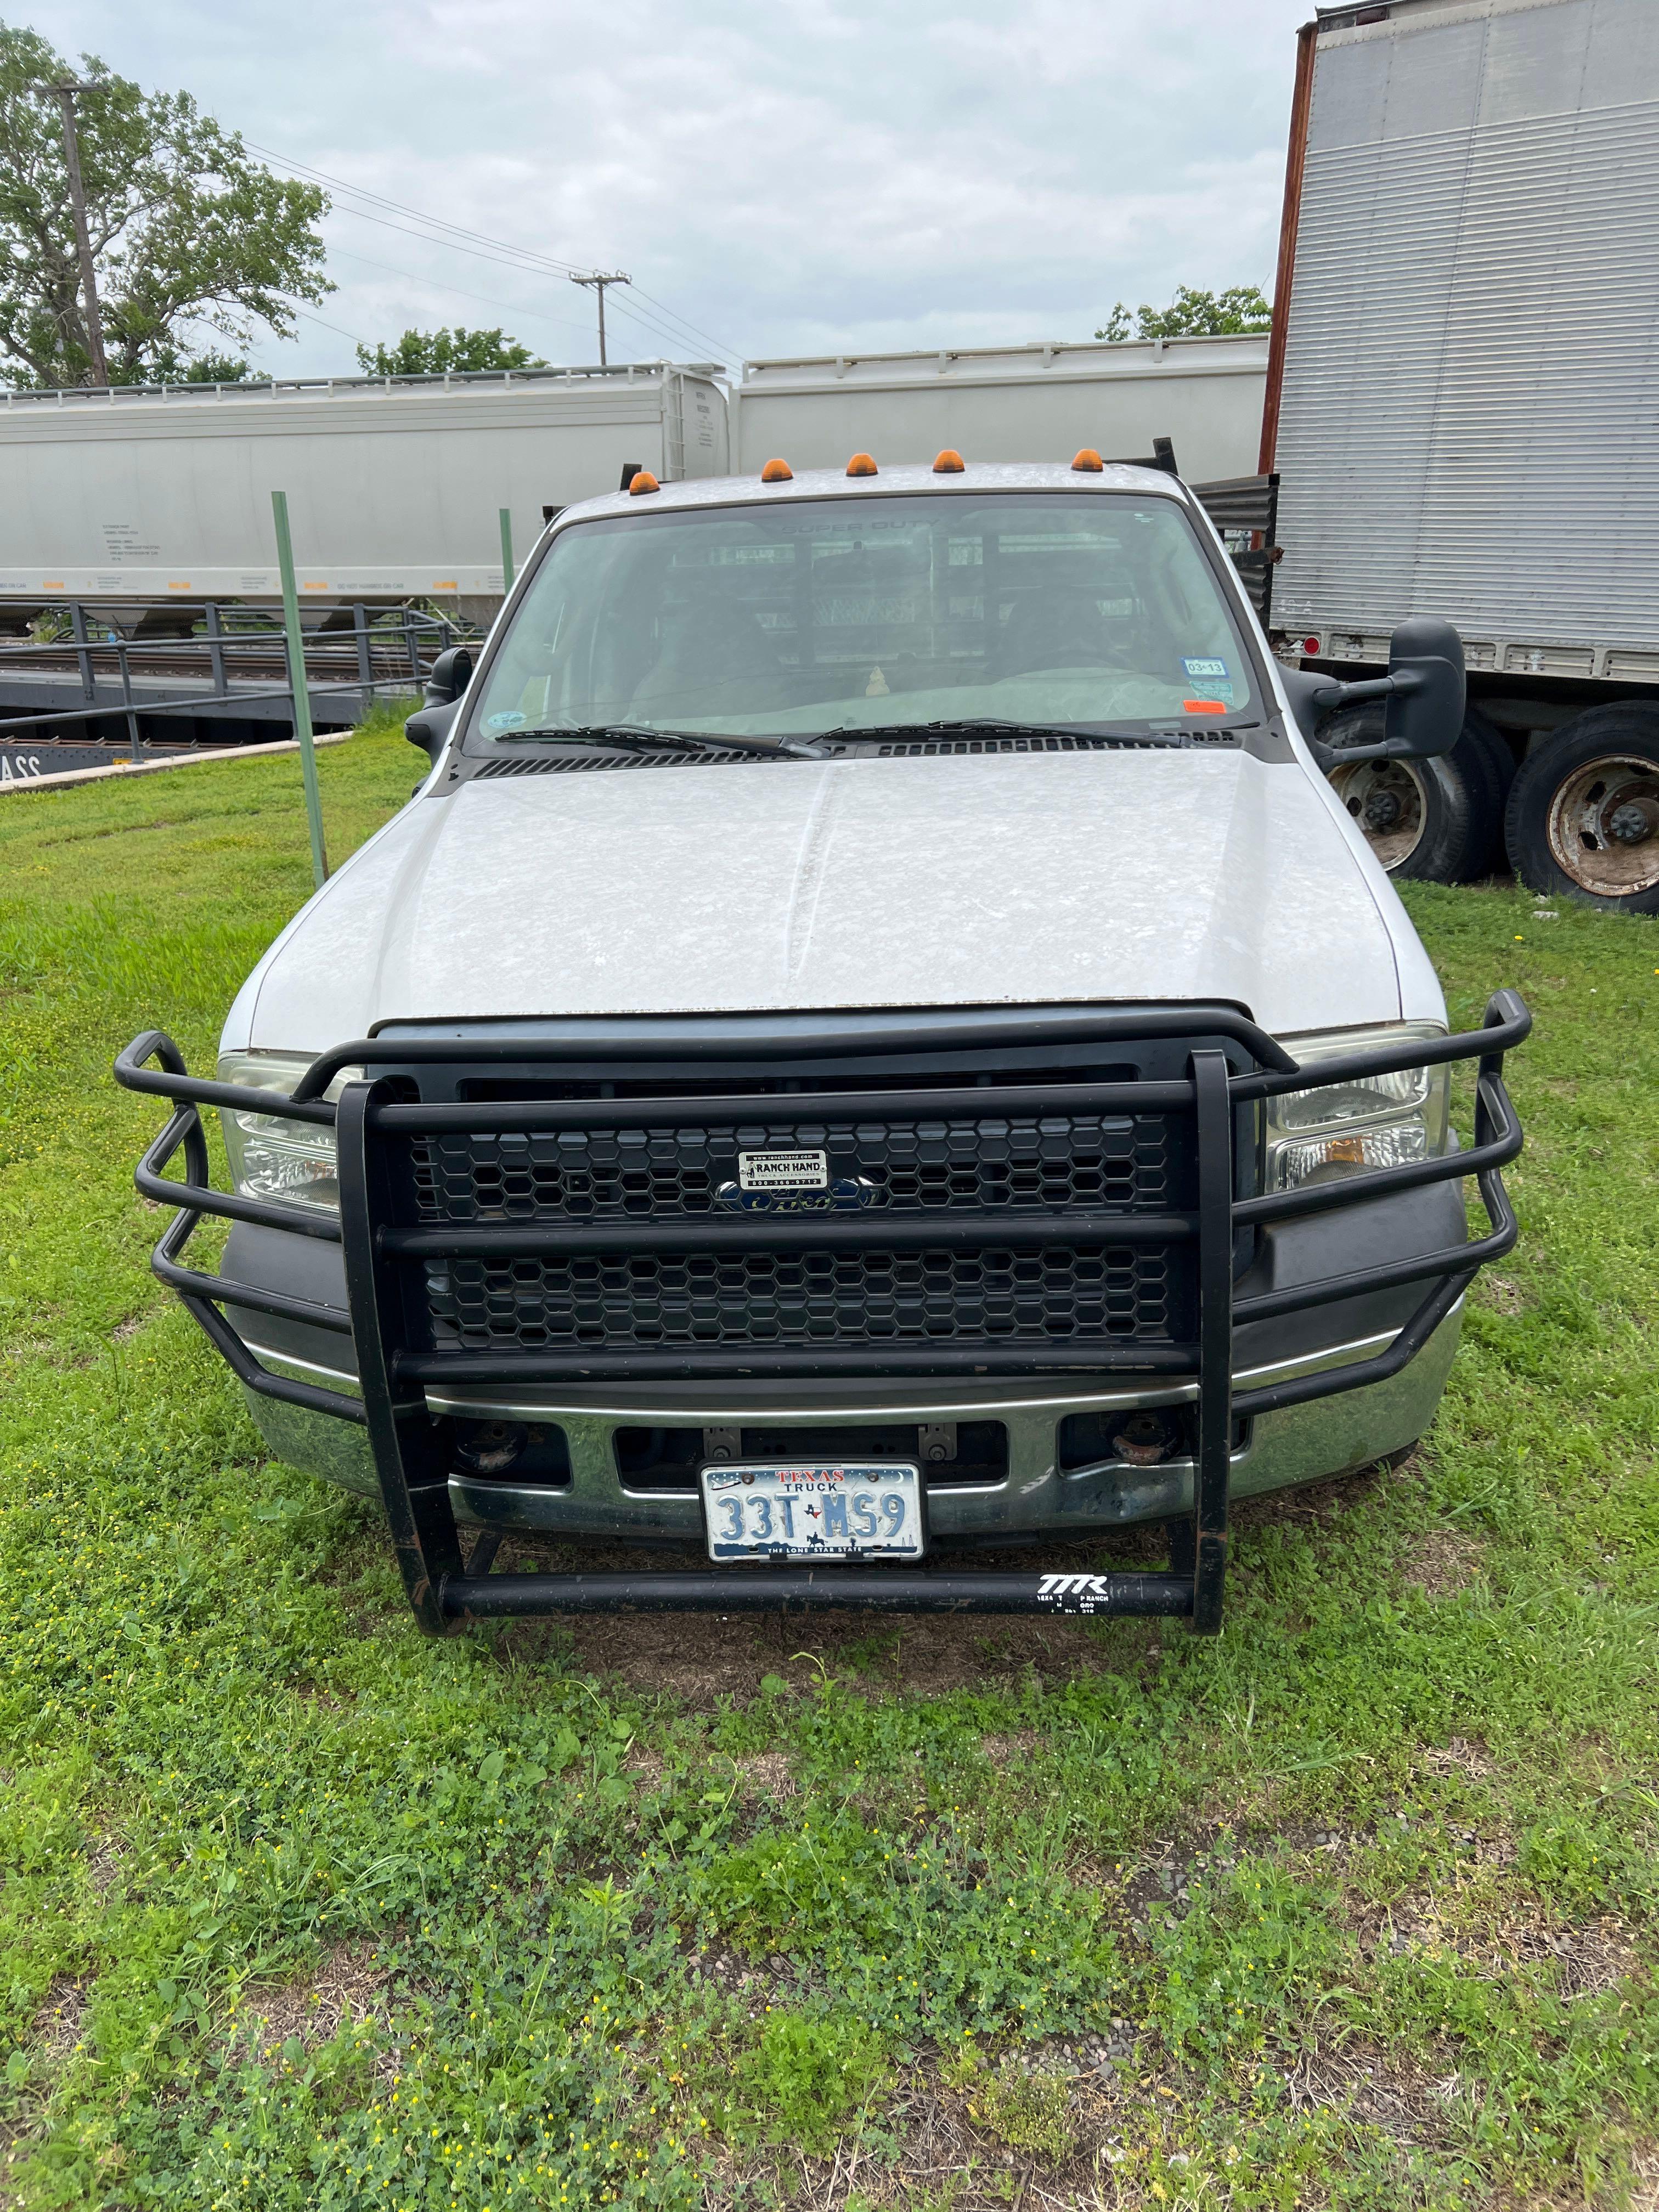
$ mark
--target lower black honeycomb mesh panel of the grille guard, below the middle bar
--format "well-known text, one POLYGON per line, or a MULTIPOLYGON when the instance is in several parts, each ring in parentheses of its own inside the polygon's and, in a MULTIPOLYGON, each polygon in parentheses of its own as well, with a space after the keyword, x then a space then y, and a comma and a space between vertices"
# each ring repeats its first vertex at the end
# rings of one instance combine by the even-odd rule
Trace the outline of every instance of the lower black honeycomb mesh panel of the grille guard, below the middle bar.
POLYGON ((438 1349, 1168 1338, 1157 1248, 451 1259, 438 1349))

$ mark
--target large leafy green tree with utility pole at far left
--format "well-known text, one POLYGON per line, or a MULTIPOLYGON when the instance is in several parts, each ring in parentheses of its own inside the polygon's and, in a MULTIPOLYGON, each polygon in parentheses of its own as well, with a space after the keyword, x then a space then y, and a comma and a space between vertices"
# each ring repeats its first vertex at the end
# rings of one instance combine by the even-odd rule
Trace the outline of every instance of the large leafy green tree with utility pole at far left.
MULTIPOLYGON (((0 22, 0 372, 91 380, 91 349, 53 86, 80 75, 80 166, 115 383, 188 374, 215 338, 288 336, 323 299, 327 195, 250 161, 188 93, 146 93, 95 55, 73 71, 44 38, 0 22)), ((217 356, 228 358, 223 352, 217 356)))

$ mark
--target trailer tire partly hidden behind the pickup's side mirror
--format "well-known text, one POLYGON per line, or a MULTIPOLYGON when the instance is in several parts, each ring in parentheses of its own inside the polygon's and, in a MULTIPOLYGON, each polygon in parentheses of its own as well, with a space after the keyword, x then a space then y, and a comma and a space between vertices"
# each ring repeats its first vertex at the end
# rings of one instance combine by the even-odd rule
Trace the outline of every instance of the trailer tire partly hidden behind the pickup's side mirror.
MULTIPOLYGON (((1321 726, 1327 745, 1376 745, 1383 706, 1352 706, 1321 726)), ((1502 739, 1471 730, 1431 761, 1340 761, 1327 770, 1336 796, 1391 876, 1418 883, 1471 883, 1502 836, 1502 739)))

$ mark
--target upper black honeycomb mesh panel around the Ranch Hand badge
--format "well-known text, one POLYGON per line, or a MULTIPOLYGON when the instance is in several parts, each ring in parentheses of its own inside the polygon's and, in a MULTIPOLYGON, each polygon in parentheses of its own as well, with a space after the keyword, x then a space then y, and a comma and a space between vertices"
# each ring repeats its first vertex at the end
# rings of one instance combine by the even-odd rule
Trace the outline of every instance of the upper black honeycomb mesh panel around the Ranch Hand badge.
POLYGON ((1161 1115, 458 1133, 416 1144, 416 1201, 431 1223, 719 1217, 737 1155, 772 1148, 825 1150, 832 1177, 867 1186, 869 1210, 1172 1203, 1161 1115))

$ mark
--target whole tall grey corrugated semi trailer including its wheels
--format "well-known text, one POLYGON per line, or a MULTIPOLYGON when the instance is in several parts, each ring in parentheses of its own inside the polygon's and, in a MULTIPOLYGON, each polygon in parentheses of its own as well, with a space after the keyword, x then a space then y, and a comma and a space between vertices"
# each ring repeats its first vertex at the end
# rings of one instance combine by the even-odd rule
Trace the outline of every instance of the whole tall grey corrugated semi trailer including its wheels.
POLYGON ((1659 911, 1655 0, 1321 7, 1276 305, 1279 648, 1365 677, 1431 613, 1469 661, 1458 750, 1338 765, 1349 812, 1407 876, 1659 911))

